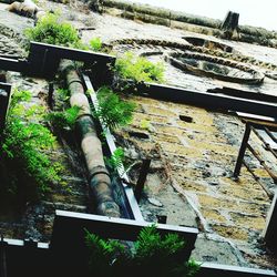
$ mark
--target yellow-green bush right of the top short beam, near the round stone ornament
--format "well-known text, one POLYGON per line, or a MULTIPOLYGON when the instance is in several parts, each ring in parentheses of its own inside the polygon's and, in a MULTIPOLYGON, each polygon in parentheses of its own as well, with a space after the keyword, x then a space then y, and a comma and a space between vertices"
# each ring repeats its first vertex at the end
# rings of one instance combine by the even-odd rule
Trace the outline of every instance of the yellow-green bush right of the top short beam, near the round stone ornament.
POLYGON ((143 57, 135 57, 126 52, 116 59, 115 71, 123 79, 132 79, 136 82, 164 82, 164 64, 153 63, 143 57))

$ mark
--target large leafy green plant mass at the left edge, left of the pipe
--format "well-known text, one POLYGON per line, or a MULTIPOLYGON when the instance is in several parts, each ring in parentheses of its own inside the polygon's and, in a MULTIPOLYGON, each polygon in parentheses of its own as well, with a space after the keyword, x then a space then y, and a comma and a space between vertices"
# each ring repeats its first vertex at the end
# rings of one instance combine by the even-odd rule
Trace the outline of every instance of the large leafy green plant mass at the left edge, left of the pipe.
POLYGON ((50 184, 60 182, 63 168, 47 155, 54 148, 55 137, 42 125, 45 111, 30 104, 30 99, 28 91, 13 93, 0 147, 0 195, 20 195, 23 202, 39 198, 50 184))

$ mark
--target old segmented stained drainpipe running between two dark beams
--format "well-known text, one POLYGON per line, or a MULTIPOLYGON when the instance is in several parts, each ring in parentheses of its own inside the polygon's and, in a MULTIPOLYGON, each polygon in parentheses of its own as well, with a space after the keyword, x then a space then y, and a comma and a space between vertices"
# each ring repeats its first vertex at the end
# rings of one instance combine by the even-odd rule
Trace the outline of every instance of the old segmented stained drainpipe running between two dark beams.
POLYGON ((80 107, 75 130, 80 137, 80 146, 86 163, 89 187, 95 201, 96 213, 105 216, 120 217, 120 207, 113 199, 112 185, 104 164, 102 144, 96 134, 96 127, 81 79, 72 61, 63 60, 60 64, 60 71, 66 80, 71 94, 71 106, 80 107))

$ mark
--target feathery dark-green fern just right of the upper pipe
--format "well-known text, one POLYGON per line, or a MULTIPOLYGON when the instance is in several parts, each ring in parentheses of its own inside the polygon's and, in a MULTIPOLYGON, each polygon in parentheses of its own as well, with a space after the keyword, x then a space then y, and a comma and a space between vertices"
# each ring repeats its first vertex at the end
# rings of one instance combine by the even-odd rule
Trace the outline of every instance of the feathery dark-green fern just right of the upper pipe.
POLYGON ((116 129, 132 121, 135 104, 123 101, 106 86, 98 91, 99 104, 93 109, 93 115, 103 121, 105 127, 116 129))

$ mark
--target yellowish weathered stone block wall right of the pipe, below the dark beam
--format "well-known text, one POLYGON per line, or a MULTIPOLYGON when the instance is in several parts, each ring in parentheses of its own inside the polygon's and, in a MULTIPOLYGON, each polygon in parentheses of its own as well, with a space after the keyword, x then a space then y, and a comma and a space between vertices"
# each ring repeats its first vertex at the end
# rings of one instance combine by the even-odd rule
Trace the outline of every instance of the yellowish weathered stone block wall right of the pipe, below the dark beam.
MULTIPOLYGON (((133 123, 117 135, 119 141, 124 137, 122 145, 126 155, 136 160, 146 156, 153 162, 141 203, 145 219, 153 219, 158 214, 167 215, 168 223, 197 226, 203 234, 213 237, 214 244, 228 242, 227 248, 236 244, 247 254, 259 247, 257 239, 265 228, 270 199, 255 177, 268 183, 271 179, 250 156, 256 176, 243 167, 239 179, 233 178, 244 133, 240 120, 185 104, 137 96, 131 100, 137 104, 133 123), (148 138, 134 137, 134 132, 148 138), (133 148, 131 153, 130 148, 133 148), (134 152, 140 155, 135 156, 134 152), (160 184, 153 182, 155 173, 160 174, 160 184), (168 186, 174 189, 164 197, 168 186), (183 204, 175 194, 183 196, 183 204), (152 199, 147 201, 152 197, 160 204, 160 209, 153 208, 152 199), (173 198, 178 215, 174 215, 173 198), (182 209, 189 216, 185 217, 182 209)), ((258 147, 256 137, 252 137, 252 143, 258 147)), ((218 250, 214 247, 208 256, 218 261, 215 249, 218 250)), ((204 257, 203 249, 196 249, 195 255, 201 260, 208 259, 204 257)))

